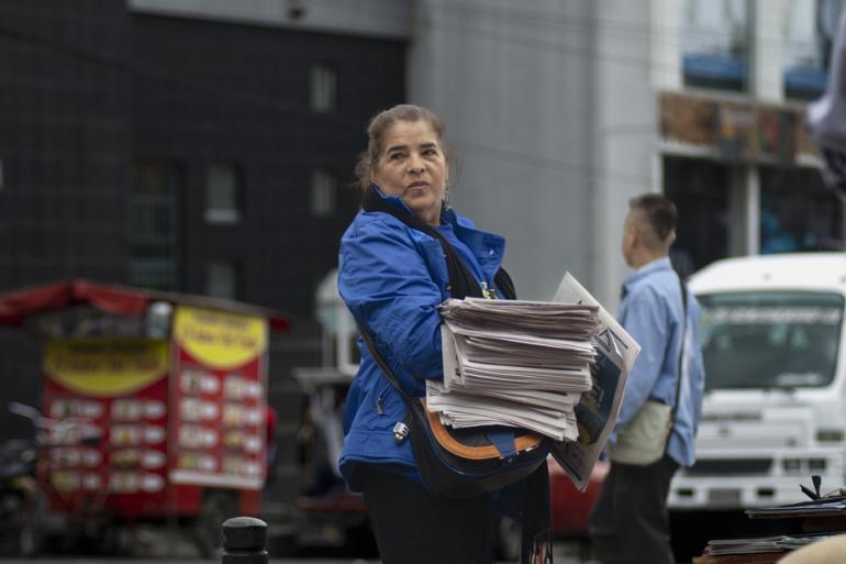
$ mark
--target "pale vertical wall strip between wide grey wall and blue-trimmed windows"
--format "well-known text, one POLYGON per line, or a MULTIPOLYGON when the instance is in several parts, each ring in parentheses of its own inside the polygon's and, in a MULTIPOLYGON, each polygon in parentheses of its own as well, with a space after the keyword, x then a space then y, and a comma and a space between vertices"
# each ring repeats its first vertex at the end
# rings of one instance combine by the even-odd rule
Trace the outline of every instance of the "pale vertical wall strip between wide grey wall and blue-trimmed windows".
POLYGON ((599 26, 593 162, 601 175, 593 198, 590 284, 594 296, 613 308, 620 285, 630 272, 621 252, 628 200, 657 190, 653 178, 657 99, 652 80, 663 76, 663 67, 653 60, 653 40, 659 35, 648 0, 601 0, 595 5, 599 26))

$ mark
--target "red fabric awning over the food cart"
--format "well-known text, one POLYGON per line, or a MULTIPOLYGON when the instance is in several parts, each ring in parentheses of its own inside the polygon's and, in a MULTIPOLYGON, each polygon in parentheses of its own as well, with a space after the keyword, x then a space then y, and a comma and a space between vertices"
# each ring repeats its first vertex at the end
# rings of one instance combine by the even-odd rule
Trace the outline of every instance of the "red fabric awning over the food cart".
POLYGON ((31 286, 0 294, 0 325, 20 325, 29 316, 76 305, 89 305, 114 316, 141 317, 146 313, 147 306, 154 301, 259 316, 267 319, 270 328, 277 331, 287 331, 291 325, 287 316, 248 303, 190 294, 102 284, 86 279, 31 286))

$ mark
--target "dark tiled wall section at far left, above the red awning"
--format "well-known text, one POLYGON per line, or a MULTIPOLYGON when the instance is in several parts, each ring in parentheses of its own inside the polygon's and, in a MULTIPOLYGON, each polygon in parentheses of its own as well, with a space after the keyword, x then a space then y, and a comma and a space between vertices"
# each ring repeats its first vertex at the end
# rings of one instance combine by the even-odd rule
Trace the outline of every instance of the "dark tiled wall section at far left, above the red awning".
POLYGON ((0 0, 0 290, 125 281, 129 22, 112 0, 0 0))

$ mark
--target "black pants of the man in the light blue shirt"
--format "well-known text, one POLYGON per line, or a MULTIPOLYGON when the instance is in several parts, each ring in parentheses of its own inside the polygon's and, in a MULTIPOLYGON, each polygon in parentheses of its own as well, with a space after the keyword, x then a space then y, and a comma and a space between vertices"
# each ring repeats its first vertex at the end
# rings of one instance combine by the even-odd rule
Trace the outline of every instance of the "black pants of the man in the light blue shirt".
POLYGON ((603 564, 672 564, 667 494, 679 465, 665 455, 648 466, 611 464, 590 516, 593 551, 603 564))

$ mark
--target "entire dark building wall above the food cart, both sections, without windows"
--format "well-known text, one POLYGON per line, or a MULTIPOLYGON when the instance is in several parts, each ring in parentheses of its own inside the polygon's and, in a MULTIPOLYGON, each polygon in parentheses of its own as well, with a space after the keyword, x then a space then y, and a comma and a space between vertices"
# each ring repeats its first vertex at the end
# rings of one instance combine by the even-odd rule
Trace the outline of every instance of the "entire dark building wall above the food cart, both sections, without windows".
POLYGON ((238 298, 311 317, 355 213, 355 155, 378 109, 404 97, 401 42, 129 14, 111 0, 0 0, 0 290, 85 276, 125 283, 133 164, 179 164, 177 290, 209 261, 243 266, 238 298), (337 69, 338 107, 309 109, 313 63, 337 69), (244 217, 203 220, 214 161, 244 179, 244 217), (339 180, 312 218, 313 167, 339 180))

